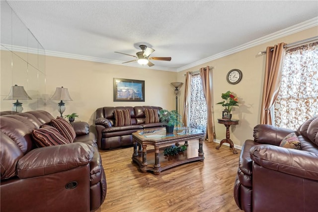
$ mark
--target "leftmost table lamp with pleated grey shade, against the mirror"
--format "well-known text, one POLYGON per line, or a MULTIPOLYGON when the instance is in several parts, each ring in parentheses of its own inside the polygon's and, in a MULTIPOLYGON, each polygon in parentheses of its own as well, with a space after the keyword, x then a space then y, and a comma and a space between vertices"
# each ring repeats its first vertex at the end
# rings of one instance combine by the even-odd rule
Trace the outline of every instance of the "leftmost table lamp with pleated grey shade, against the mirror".
POLYGON ((3 100, 16 100, 16 102, 13 103, 12 111, 22 112, 23 110, 22 103, 20 103, 18 100, 32 100, 32 99, 26 93, 23 86, 14 85, 11 87, 9 95, 6 96, 3 100))

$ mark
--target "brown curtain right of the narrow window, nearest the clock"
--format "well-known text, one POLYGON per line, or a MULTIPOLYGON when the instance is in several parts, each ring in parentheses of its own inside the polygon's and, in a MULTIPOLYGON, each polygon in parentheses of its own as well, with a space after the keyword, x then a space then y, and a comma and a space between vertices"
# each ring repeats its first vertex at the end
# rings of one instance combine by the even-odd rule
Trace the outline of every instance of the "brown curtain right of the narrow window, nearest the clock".
POLYGON ((215 137, 214 132, 214 121, 212 114, 212 96, 211 96, 211 86, 210 86, 210 67, 200 69, 200 76, 202 79, 202 87, 205 100, 207 102, 207 138, 209 142, 212 142, 215 137))

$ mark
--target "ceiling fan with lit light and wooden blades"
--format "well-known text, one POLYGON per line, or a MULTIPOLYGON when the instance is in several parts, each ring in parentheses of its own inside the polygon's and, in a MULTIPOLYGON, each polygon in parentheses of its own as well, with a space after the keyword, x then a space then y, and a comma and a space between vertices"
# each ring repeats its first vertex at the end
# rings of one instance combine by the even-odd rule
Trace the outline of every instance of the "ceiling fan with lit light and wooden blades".
POLYGON ((124 54, 124 55, 128 55, 128 56, 132 56, 135 57, 135 60, 130 60, 124 63, 130 63, 130 62, 134 62, 137 61, 139 64, 141 65, 148 65, 149 67, 154 66, 155 64, 153 64, 152 62, 150 62, 149 60, 163 60, 163 61, 170 61, 171 57, 150 57, 151 53, 153 53, 155 51, 155 49, 152 49, 150 47, 147 47, 146 45, 140 45, 139 46, 142 50, 142 52, 137 52, 136 55, 131 55, 131 54, 126 54, 126 53, 121 53, 121 52, 115 52, 115 53, 119 53, 119 54, 124 54))

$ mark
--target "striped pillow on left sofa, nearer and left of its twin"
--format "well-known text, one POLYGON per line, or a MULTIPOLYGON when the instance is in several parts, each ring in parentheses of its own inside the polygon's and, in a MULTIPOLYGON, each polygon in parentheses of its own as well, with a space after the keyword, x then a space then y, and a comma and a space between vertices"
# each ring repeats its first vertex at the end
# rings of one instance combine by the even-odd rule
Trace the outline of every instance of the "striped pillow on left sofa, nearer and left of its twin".
POLYGON ((70 143, 63 135, 61 135, 59 130, 49 125, 45 125, 43 128, 33 129, 32 137, 39 147, 70 143))

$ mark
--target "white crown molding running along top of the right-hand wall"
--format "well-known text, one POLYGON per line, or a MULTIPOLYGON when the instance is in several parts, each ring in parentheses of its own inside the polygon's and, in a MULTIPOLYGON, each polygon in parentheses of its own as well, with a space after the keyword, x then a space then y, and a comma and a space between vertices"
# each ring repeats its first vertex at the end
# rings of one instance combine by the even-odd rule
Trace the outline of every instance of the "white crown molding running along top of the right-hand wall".
POLYGON ((248 43, 242 44, 240 46, 237 46, 235 48, 229 49, 227 51, 212 55, 212 56, 207 57, 205 59, 202 59, 202 60, 196 61, 194 63, 191 63, 189 65, 183 66, 181 68, 178 68, 177 72, 184 71, 186 69, 193 68, 195 66, 210 62, 212 60, 216 60, 216 59, 219 59, 219 58, 222 58, 222 57, 225 57, 225 56, 228 56, 228 55, 243 51, 245 49, 249 49, 251 47, 258 46, 260 44, 267 43, 269 41, 276 40, 278 38, 285 37, 287 35, 291 35, 291 34, 294 34, 296 32, 300 32, 300 31, 303 31, 305 29, 309 29, 309 28, 312 28, 312 27, 315 27, 315 26, 318 26, 318 16, 315 17, 315 18, 309 19, 307 21, 301 22, 299 24, 296 24, 294 26, 291 26, 291 27, 279 30, 277 32, 271 33, 269 35, 260 37, 258 39, 252 40, 252 41, 250 41, 248 43))

